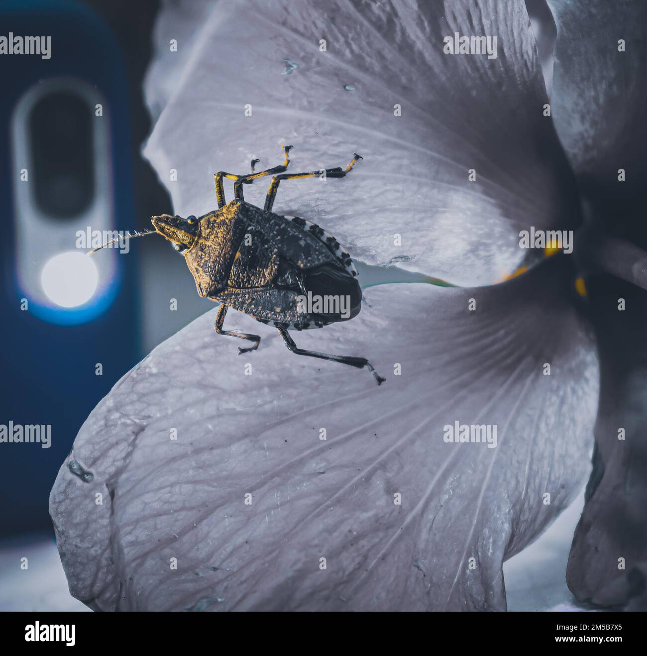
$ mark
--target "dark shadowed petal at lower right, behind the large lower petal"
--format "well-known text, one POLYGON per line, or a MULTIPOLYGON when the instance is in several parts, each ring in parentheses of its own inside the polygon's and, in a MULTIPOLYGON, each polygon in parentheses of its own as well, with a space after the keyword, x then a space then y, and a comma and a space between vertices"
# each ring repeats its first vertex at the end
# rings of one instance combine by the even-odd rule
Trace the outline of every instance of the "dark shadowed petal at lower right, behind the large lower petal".
POLYGON ((566 581, 581 602, 647 608, 647 296, 616 283, 597 300, 600 406, 593 472, 566 581), (623 312, 609 311, 616 298, 623 312))

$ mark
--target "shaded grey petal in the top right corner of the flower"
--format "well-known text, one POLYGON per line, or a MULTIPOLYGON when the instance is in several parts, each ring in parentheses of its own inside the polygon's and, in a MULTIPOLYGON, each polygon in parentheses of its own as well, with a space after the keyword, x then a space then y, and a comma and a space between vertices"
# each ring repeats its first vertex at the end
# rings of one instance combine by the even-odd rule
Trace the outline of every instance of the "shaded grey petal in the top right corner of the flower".
POLYGON ((635 193, 647 181, 647 3, 548 1, 557 23, 551 105, 560 140, 587 191, 635 193), (627 173, 624 186, 618 169, 627 173))

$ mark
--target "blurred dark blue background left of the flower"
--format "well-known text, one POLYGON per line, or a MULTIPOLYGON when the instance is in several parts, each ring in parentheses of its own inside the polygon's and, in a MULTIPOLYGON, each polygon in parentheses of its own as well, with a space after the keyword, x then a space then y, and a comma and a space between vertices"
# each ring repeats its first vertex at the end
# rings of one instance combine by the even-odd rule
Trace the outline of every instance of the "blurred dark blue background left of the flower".
MULTIPOLYGON (((83 318, 85 306, 78 314, 67 312, 63 324, 33 312, 31 300, 29 311, 20 310, 20 298, 29 298, 16 282, 13 185, 21 168, 22 146, 12 150, 10 130, 16 102, 35 85, 73 78, 104 96, 115 229, 149 228, 150 216, 172 212, 167 192, 140 155, 151 129, 142 83, 153 56, 158 10, 159 2, 153 0, 0 4, 0 34, 52 37, 49 60, 25 54, 0 57, 0 424, 12 420, 52 426, 49 449, 39 444, 0 444, 0 536, 31 531, 53 535, 49 491, 92 408, 156 344, 212 307, 197 297, 181 258, 163 240, 150 237, 133 240, 130 253, 115 257, 119 276, 113 298, 89 320, 83 318), (178 300, 176 312, 169 309, 170 298, 178 300), (103 365, 102 376, 95 374, 98 362, 103 365)), ((96 120, 94 108, 81 104, 79 110, 78 102, 75 107, 54 96, 46 101, 31 114, 33 144, 24 147, 33 149, 37 162, 29 171, 30 192, 51 213, 53 229, 78 216, 79 207, 94 193, 92 166, 99 154, 85 134, 96 120), (79 154, 77 144, 84 140, 89 146, 79 154), (79 171, 87 172, 80 190, 73 186, 79 171)), ((51 243, 47 232, 46 227, 38 237, 43 253, 51 243)), ((73 235, 71 229, 71 246, 73 235)), ((114 253, 118 251, 104 250, 93 257, 114 253)), ((49 256, 28 264, 42 268, 49 256)))

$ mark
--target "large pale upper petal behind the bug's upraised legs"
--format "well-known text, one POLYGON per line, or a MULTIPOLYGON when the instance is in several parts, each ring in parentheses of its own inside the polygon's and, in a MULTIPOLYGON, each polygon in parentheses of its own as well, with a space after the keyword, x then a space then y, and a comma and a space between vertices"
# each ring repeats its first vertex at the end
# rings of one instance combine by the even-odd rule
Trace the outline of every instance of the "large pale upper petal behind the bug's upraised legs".
MULTIPOLYGON (((213 209, 212 174, 273 167, 286 144, 292 173, 363 155, 343 180, 283 182, 275 209, 369 264, 488 284, 527 254, 520 230, 578 224, 521 0, 190 3, 193 32, 186 5, 161 14, 146 85, 145 154, 165 182, 176 169, 180 215, 213 209), (444 54, 454 33, 496 37, 498 56, 444 54)), ((246 197, 262 204, 264 180, 246 197)))

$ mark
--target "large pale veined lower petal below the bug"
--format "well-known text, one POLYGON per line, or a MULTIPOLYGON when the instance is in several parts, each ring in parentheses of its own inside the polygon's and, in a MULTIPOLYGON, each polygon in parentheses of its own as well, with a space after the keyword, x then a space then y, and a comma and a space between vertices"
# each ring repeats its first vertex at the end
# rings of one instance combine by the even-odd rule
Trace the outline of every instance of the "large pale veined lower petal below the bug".
POLYGON ((196 319, 113 388, 60 470, 72 594, 106 610, 505 609, 501 564, 579 489, 597 403, 564 262, 547 265, 496 287, 375 287, 351 323, 293 333, 367 357, 381 386, 232 312, 262 335, 239 356, 214 312, 196 319), (447 443, 455 421, 496 424, 496 447, 447 443))

